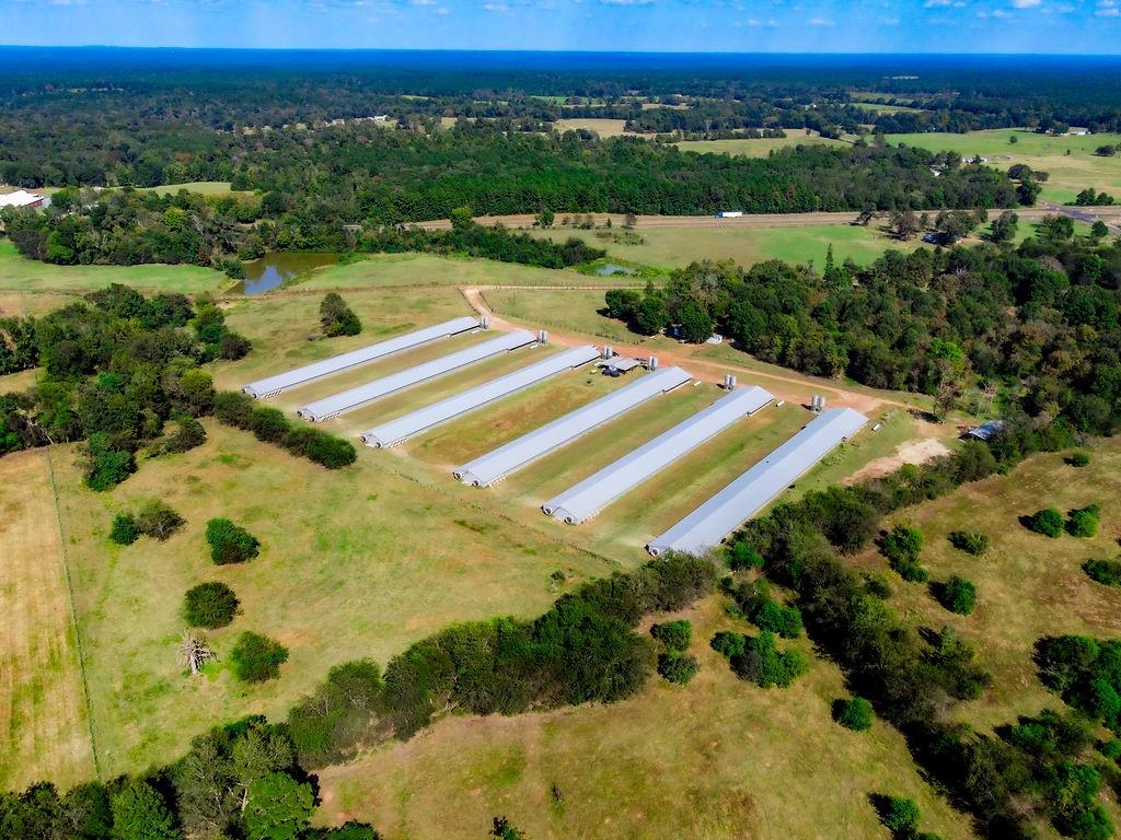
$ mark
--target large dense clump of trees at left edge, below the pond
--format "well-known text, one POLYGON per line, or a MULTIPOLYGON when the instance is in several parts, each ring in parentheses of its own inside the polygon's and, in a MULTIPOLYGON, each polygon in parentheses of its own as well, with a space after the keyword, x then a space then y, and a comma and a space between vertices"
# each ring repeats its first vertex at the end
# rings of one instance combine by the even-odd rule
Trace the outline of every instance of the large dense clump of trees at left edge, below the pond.
POLYGON ((102 491, 136 472, 146 445, 195 445, 191 419, 214 399, 200 365, 214 353, 210 334, 185 329, 194 318, 183 295, 146 298, 117 283, 43 317, 0 318, 0 374, 43 368, 34 389, 0 396, 0 454, 85 441, 85 483, 102 491), (164 438, 173 418, 177 431, 164 438))

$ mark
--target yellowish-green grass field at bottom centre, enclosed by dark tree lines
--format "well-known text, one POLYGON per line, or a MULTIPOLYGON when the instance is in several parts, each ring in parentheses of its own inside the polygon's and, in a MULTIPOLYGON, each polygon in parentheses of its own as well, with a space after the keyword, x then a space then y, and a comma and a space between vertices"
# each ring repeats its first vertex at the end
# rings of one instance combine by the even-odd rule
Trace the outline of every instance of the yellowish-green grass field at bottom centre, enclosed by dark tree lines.
POLYGON ((805 638, 785 643, 810 662, 790 689, 738 680, 708 647, 716 631, 750 632, 724 608, 714 597, 680 614, 701 661, 687 688, 655 676, 618 704, 445 719, 322 771, 316 821, 370 820, 387 840, 483 837, 495 814, 541 840, 886 838, 868 799, 886 793, 915 799, 924 830, 973 837, 895 730, 832 721, 843 679, 805 638))

